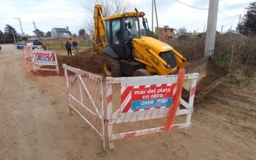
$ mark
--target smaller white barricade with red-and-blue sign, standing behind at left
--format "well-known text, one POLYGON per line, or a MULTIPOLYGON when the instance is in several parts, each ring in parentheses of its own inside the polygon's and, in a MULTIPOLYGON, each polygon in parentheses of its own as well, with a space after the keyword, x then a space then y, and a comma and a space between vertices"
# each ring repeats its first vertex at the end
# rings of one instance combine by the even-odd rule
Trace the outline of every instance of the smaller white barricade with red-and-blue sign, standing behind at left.
POLYGON ((51 70, 60 72, 55 51, 31 51, 31 60, 34 70, 51 70))

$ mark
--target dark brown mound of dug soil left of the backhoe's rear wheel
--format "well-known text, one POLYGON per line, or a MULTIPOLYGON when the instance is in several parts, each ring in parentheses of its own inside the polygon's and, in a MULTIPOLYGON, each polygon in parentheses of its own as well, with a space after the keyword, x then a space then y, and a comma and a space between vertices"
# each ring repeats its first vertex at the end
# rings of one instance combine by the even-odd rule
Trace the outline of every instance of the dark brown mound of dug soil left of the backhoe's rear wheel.
POLYGON ((100 61, 102 56, 94 52, 92 49, 88 51, 79 52, 76 56, 63 56, 57 54, 58 64, 69 65, 71 67, 80 68, 96 74, 101 73, 100 61))

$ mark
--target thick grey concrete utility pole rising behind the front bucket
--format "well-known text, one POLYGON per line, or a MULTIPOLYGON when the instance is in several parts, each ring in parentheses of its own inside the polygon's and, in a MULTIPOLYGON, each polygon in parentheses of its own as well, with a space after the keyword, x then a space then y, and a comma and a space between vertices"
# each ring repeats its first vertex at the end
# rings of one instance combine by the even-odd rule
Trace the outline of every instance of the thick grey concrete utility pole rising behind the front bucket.
POLYGON ((209 11, 207 20, 207 32, 205 38, 204 57, 214 54, 216 26, 218 19, 218 4, 219 0, 209 0, 209 11))

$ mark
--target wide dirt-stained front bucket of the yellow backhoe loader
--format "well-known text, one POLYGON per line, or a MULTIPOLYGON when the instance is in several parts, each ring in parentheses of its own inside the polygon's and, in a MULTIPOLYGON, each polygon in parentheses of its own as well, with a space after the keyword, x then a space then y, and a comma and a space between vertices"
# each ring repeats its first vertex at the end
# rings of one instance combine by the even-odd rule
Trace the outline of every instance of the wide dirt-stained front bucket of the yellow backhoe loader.
MULTIPOLYGON (((211 92, 228 75, 227 70, 220 67, 211 57, 202 58, 185 68, 186 74, 199 73, 196 83, 195 100, 199 100, 211 92)), ((189 92, 189 83, 184 83, 184 89, 189 92)))

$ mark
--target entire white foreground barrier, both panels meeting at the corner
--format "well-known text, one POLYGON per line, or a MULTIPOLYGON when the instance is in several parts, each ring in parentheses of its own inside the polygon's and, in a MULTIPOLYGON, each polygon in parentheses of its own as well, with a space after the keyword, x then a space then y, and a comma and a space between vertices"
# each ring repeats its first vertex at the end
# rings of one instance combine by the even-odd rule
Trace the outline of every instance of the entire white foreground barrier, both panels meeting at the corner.
MULTIPOLYGON (((108 126, 106 135, 108 136, 109 149, 114 148, 113 140, 164 131, 164 123, 162 122, 157 127, 142 126, 141 124, 137 126, 144 127, 144 129, 134 129, 133 123, 146 122, 147 120, 158 122, 161 118, 168 117, 172 111, 173 97, 177 91, 178 75, 106 77, 105 79, 68 65, 63 65, 63 68, 67 81, 69 106, 100 135, 103 148, 105 148, 105 123, 108 126), (106 85, 103 86, 103 83, 106 85), (72 91, 72 88, 75 90, 72 91), (103 91, 106 93, 105 95, 103 91), (106 99, 105 105, 104 99, 106 99), (95 119, 99 120, 98 123, 95 123, 95 119), (126 131, 120 131, 118 126, 115 126, 127 126, 127 124, 131 128, 124 127, 126 131)), ((184 115, 186 118, 184 119, 185 122, 173 122, 170 127, 171 130, 184 128, 185 133, 188 133, 191 126, 197 78, 197 73, 185 74, 184 79, 191 86, 188 99, 186 99, 188 102, 179 97, 180 106, 174 114, 176 116, 184 115)), ((182 118, 184 117, 182 116, 180 121, 183 121, 182 118)))

